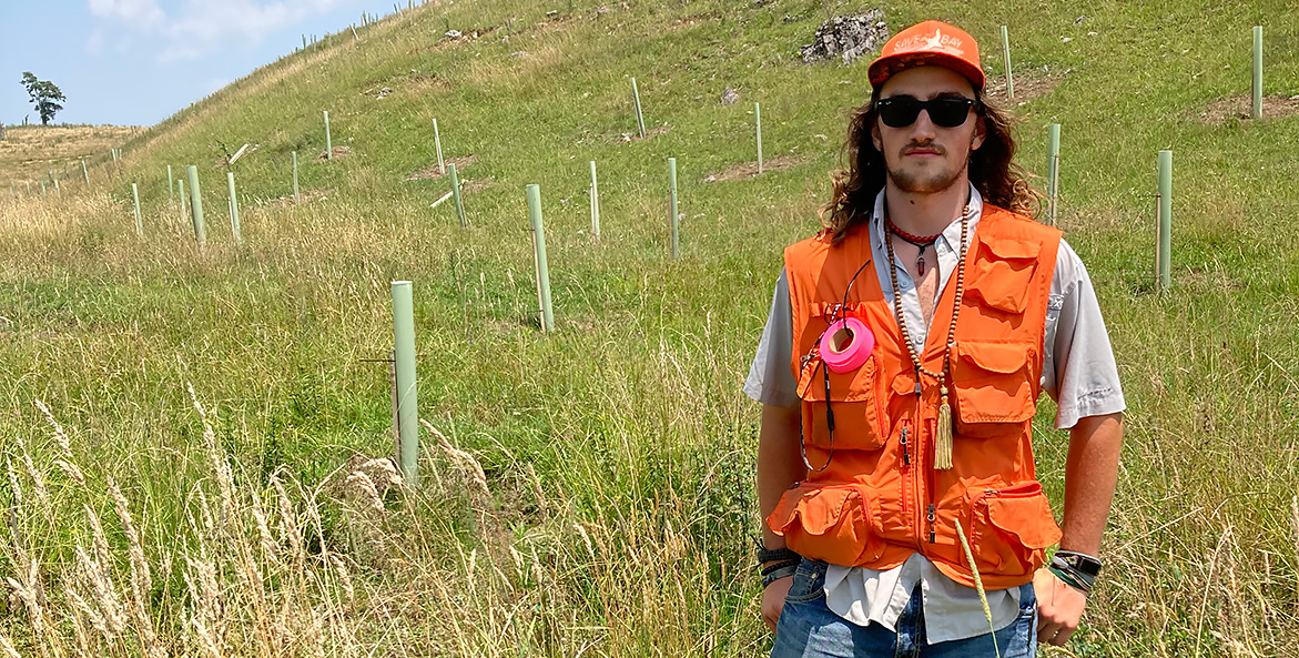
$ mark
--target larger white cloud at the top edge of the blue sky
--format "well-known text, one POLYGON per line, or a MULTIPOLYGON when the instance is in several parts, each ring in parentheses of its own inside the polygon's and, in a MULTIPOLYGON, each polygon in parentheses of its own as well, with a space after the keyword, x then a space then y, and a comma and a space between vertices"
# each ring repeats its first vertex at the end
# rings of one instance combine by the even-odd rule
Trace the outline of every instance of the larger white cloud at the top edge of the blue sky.
MULTIPOLYGON (((87 0, 103 22, 120 23, 158 39, 158 61, 186 60, 220 51, 230 42, 257 43, 268 34, 349 0, 183 0, 164 10, 157 0, 87 0)), ((101 46, 87 43, 87 47, 101 46)))

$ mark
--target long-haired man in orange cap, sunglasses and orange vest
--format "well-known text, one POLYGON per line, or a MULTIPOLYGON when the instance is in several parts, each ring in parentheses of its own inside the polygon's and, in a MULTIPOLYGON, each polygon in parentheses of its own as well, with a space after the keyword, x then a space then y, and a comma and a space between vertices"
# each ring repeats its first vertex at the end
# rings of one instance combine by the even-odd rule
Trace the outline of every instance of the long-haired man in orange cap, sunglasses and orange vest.
POLYGON ((1033 655, 1069 638, 1100 570, 1125 408, 1109 339, 1078 256, 1024 216, 974 39, 912 26, 868 77, 746 384, 772 655, 1033 655), (1042 391, 1069 429, 1063 532, 1034 472, 1042 391))

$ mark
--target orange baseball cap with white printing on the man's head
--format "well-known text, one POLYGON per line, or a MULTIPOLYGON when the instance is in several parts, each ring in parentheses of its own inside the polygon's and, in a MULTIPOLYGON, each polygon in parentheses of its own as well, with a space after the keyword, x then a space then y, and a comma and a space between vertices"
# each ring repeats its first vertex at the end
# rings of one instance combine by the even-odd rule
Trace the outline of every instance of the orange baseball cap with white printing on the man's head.
POLYGON ((940 21, 925 21, 895 34, 870 62, 866 77, 870 86, 878 88, 892 74, 926 64, 955 70, 965 75, 974 90, 983 90, 978 43, 965 30, 940 21))

